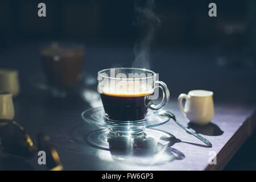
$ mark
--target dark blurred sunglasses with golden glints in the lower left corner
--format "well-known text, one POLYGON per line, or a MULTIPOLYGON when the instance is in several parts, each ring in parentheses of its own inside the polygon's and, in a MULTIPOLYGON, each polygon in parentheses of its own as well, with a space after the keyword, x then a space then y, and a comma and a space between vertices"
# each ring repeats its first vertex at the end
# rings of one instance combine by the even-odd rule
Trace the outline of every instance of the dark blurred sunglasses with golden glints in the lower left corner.
POLYGON ((30 135, 15 121, 0 119, 0 147, 5 154, 22 159, 30 159, 37 151, 45 151, 46 166, 49 170, 63 169, 59 155, 49 137, 46 134, 39 134, 38 148, 36 148, 30 135))

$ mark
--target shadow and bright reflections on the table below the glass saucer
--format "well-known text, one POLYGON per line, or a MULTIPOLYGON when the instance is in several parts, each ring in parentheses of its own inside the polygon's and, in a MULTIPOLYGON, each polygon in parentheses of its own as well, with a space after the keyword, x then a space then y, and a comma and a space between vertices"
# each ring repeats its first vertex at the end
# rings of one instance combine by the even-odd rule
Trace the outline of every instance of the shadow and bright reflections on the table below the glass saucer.
POLYGON ((90 146, 110 151, 113 160, 126 164, 152 166, 185 158, 182 152, 171 147, 180 140, 156 129, 146 129, 135 137, 116 136, 108 129, 96 130, 88 135, 87 142, 90 146))

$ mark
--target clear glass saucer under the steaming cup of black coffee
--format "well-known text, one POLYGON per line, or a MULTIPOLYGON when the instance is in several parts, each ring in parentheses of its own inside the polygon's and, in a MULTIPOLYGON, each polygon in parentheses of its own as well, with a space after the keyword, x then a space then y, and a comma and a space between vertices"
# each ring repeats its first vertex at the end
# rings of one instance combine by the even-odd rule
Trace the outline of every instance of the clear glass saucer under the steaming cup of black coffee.
POLYGON ((159 116, 154 114, 153 111, 149 110, 146 119, 143 120, 113 121, 106 118, 103 107, 94 107, 85 110, 82 113, 82 119, 84 119, 86 123, 106 127, 110 130, 111 134, 118 136, 140 135, 143 133, 144 129, 163 125, 170 120, 170 118, 159 116))

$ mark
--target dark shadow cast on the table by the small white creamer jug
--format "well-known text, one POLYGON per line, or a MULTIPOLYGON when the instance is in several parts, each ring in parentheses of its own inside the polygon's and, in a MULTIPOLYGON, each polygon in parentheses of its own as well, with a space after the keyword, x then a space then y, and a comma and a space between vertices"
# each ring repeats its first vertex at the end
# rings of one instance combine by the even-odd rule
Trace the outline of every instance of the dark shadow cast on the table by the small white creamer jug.
POLYGON ((224 131, 222 131, 220 127, 218 127, 217 125, 211 122, 208 123, 207 125, 196 125, 192 122, 189 122, 188 128, 195 130, 195 132, 198 134, 203 134, 208 136, 220 136, 224 133, 224 131))

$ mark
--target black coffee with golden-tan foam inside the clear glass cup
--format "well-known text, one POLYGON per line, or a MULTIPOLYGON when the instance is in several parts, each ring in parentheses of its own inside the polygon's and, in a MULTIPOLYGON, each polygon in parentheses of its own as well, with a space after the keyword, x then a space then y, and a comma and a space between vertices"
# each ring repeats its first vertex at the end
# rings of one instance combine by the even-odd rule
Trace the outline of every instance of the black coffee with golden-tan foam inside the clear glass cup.
MULTIPOLYGON (((125 81, 121 81, 125 82, 125 81)), ((116 121, 138 121, 146 117, 150 96, 154 90, 139 81, 129 81, 116 85, 105 85, 101 93, 102 104, 108 117, 116 121), (129 85, 129 84, 128 84, 129 85)))

